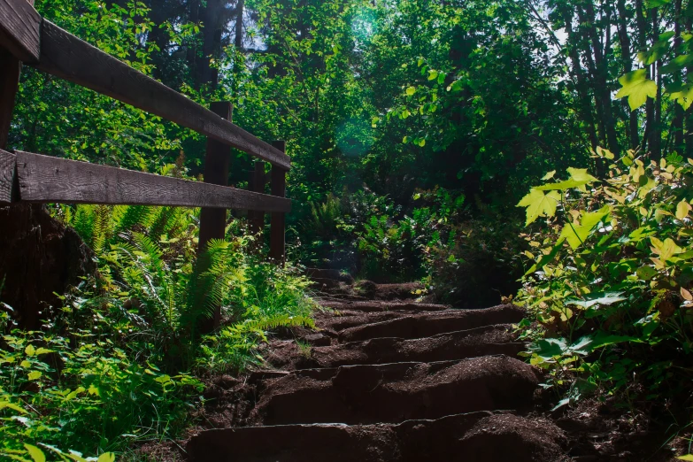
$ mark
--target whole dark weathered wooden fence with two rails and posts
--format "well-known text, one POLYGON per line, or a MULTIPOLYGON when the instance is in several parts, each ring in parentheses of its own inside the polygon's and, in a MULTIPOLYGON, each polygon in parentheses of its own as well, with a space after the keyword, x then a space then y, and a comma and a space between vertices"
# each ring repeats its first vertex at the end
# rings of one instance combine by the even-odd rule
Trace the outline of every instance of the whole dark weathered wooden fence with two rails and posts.
POLYGON ((0 0, 0 203, 142 204, 202 207, 199 246, 224 236, 226 209, 249 211, 260 231, 270 212, 270 257, 283 262, 286 173, 284 142, 272 144, 235 126, 229 103, 196 104, 43 19, 34 0, 0 0), (6 151, 21 65, 73 81, 207 136, 204 182, 29 152, 6 151), (259 158, 250 190, 228 187, 231 148, 259 158), (272 165, 266 186, 264 161, 272 165))

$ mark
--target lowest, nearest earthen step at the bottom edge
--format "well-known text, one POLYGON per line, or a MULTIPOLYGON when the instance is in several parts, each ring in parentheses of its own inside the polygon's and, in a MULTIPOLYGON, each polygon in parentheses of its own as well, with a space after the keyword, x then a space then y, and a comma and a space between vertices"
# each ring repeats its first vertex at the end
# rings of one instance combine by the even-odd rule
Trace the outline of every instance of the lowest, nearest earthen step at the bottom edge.
POLYGON ((565 446, 547 420, 474 412, 397 425, 206 430, 186 449, 190 462, 557 462, 565 446))

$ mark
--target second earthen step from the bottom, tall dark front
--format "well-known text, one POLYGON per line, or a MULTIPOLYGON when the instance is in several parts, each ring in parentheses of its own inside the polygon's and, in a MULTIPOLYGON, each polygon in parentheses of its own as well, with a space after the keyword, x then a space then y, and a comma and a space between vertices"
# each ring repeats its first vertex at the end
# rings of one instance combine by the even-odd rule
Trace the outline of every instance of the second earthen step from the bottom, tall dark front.
POLYGON ((249 421, 369 424, 525 409, 538 382, 532 366, 505 356, 304 369, 264 382, 249 421))

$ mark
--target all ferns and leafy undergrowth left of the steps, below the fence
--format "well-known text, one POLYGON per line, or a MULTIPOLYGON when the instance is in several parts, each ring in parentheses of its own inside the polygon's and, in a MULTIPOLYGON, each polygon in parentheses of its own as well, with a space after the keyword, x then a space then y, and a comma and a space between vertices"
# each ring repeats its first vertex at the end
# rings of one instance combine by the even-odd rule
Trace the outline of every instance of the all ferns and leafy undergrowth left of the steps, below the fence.
POLYGON ((0 458, 81 461, 84 453, 104 462, 173 438, 200 402, 200 377, 262 363, 268 330, 313 326, 308 282, 251 251, 256 237, 237 221, 196 258, 196 211, 79 205, 53 213, 94 250, 98 272, 62 297, 41 331, 12 329, 6 307, 0 458), (208 332, 216 306, 222 327, 208 332))

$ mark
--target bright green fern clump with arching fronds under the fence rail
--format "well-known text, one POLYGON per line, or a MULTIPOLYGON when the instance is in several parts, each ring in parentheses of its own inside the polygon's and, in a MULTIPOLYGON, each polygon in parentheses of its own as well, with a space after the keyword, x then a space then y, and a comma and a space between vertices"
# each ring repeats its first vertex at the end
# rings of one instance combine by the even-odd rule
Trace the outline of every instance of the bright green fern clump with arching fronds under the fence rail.
POLYGON ((308 282, 249 251, 250 237, 212 241, 197 255, 195 210, 78 205, 58 215, 95 250, 104 296, 94 302, 111 307, 134 354, 173 369, 235 368, 257 359, 266 330, 312 327, 308 282), (227 327, 201 338, 219 306, 227 327))

